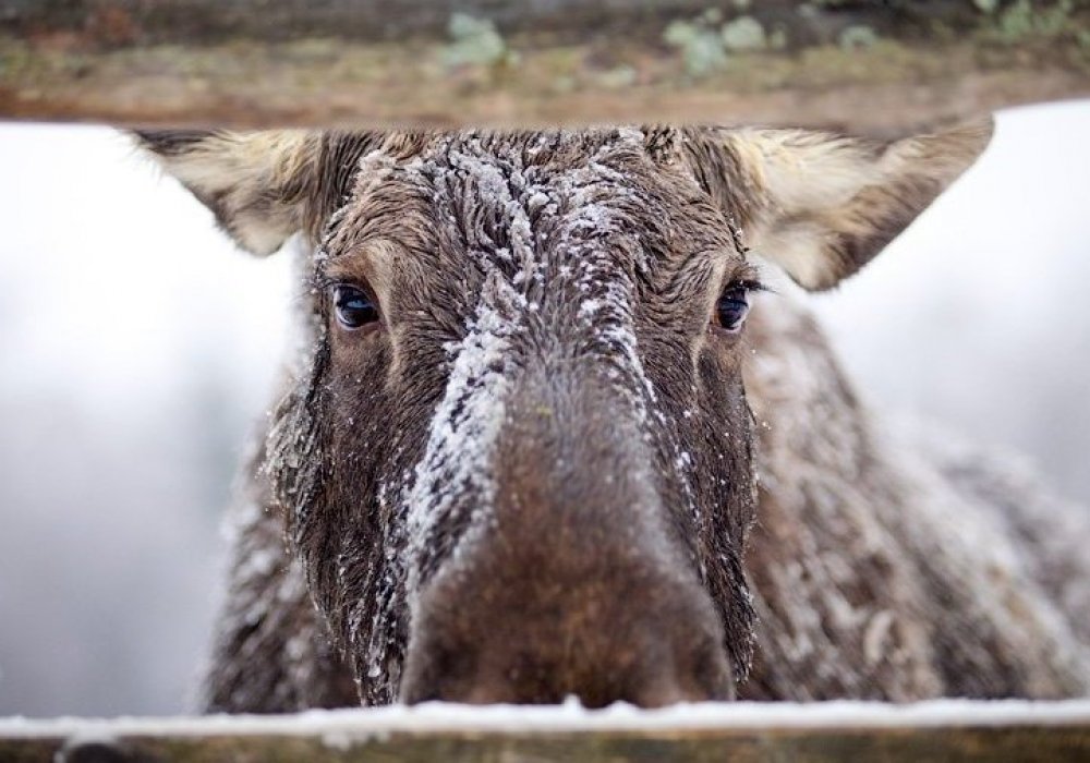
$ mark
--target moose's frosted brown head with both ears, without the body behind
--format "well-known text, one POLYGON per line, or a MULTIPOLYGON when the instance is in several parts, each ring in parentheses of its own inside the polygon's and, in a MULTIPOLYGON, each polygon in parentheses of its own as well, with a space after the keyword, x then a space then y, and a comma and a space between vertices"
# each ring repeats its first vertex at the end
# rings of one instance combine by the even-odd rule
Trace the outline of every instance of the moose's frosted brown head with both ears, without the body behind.
POLYGON ((989 132, 141 138, 243 246, 314 244, 267 470, 363 700, 652 706, 752 653, 740 230, 831 287, 989 132))

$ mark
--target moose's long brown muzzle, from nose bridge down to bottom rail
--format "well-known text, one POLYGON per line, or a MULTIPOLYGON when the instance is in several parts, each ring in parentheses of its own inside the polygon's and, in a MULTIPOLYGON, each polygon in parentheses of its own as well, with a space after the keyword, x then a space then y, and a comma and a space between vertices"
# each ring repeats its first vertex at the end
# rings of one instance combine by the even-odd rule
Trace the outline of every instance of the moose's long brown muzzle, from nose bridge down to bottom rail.
POLYGON ((719 616, 635 417, 593 380, 537 379, 508 401, 487 521, 415 592, 401 699, 732 698, 719 616))

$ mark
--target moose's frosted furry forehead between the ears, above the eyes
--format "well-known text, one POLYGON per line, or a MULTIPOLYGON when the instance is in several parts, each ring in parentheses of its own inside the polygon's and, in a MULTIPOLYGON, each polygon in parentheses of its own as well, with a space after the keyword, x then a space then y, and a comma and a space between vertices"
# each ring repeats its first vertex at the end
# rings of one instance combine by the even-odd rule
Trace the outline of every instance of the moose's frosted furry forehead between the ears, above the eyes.
POLYGON ((681 140, 635 129, 388 138, 361 160, 319 269, 364 277, 390 310, 399 278, 429 276, 457 283, 450 304, 465 308, 489 277, 538 307, 603 288, 700 291, 742 257, 681 140))

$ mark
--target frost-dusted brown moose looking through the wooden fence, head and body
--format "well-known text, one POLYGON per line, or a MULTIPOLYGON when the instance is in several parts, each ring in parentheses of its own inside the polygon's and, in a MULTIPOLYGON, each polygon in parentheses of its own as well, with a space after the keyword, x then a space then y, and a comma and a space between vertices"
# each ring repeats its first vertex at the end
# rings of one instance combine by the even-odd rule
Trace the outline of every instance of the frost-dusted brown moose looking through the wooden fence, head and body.
POLYGON ((1086 516, 899 439, 762 284, 837 286, 991 134, 136 131, 300 257, 206 708, 1085 693, 1086 516))

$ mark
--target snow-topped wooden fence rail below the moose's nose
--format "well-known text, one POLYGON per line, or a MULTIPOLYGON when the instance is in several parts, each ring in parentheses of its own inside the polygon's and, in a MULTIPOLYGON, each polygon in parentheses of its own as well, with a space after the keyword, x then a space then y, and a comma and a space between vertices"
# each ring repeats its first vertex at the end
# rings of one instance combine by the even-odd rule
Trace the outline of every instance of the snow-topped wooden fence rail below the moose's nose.
POLYGON ((0 720, 0 760, 1080 761, 1090 703, 697 705, 577 715, 437 706, 168 720, 0 720), (1013 710, 1014 707, 1014 710, 1013 710), (831 710, 833 708, 833 710, 831 710), (1021 710, 1019 710, 1021 708, 1021 710), (693 714, 695 718, 687 714, 693 714))

